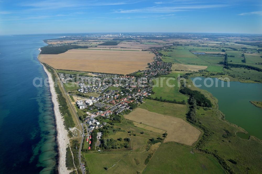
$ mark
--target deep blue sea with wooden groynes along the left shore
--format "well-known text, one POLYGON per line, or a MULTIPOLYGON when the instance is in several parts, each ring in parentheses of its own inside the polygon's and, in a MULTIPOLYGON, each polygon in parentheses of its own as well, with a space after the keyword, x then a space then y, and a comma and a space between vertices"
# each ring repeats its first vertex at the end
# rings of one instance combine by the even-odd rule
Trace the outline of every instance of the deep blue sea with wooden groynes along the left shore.
POLYGON ((43 39, 0 36, 0 173, 56 173, 57 143, 47 74, 37 60, 43 39))

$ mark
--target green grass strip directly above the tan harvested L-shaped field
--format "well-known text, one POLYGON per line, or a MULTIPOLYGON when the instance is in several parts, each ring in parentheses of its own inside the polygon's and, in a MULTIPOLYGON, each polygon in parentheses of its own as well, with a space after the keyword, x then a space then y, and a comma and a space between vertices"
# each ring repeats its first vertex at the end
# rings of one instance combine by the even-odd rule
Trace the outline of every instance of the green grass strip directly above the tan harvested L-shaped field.
POLYGON ((187 113, 187 105, 176 103, 160 102, 156 100, 146 99, 145 103, 141 104, 139 108, 146 109, 150 112, 168 115, 171 117, 185 118, 187 113))

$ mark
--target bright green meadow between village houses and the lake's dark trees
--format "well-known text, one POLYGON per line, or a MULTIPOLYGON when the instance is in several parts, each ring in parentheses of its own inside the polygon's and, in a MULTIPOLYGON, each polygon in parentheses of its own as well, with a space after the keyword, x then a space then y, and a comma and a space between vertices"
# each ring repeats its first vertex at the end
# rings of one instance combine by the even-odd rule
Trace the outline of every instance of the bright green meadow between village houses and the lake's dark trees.
POLYGON ((153 91, 155 92, 155 94, 152 94, 151 97, 153 98, 162 97, 162 99, 171 100, 171 101, 173 101, 174 99, 176 101, 183 101, 183 100, 187 101, 188 97, 179 92, 178 83, 175 78, 171 79, 168 77, 159 77, 153 81, 155 84, 158 84, 158 86, 153 87, 153 91), (169 87, 168 84, 175 85, 175 86, 169 87))

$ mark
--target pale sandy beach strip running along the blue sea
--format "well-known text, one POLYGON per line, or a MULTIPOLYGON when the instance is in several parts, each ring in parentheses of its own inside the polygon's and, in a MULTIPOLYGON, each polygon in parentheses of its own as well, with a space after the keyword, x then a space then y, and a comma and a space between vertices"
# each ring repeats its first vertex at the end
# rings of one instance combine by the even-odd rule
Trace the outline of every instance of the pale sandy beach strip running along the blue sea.
MULTIPOLYGON (((41 49, 39 48, 40 52, 41 49)), ((39 55, 38 55, 39 56, 39 55)), ((38 59, 39 60, 39 59, 38 59)), ((57 94, 54 88, 54 82, 52 79, 52 75, 50 72, 47 71, 46 67, 42 64, 42 62, 39 60, 41 65, 43 66, 47 76, 48 76, 48 82, 50 86, 50 92, 52 96, 52 102, 53 102, 53 110, 54 110, 54 116, 56 120, 56 131, 57 131, 57 149, 58 149, 58 173, 70 173, 71 171, 67 170, 67 167, 65 166, 65 158, 66 158, 66 148, 69 144, 69 138, 67 136, 68 132, 64 127, 64 119, 59 112, 59 103, 57 101, 57 94)))

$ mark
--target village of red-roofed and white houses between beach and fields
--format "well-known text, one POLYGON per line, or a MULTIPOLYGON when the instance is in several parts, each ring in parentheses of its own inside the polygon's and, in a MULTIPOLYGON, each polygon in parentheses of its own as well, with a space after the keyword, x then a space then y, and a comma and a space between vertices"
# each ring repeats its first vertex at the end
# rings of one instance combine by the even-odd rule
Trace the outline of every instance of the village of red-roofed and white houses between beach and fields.
MULTIPOLYGON (((103 120, 117 120, 118 115, 131 112, 139 103, 143 103, 144 98, 152 94, 150 79, 171 72, 172 63, 163 62, 158 50, 159 48, 149 50, 155 54, 155 57, 153 62, 148 63, 148 69, 126 76, 103 73, 92 73, 91 76, 58 73, 64 85, 71 83, 79 86, 78 94, 70 91, 68 94, 83 99, 75 101, 75 106, 85 113, 79 116, 79 120, 86 129, 84 136, 89 144, 89 150, 92 131, 105 126, 107 123, 103 120), (92 94, 98 95, 92 96, 92 94)), ((102 138, 101 132, 97 134, 100 136, 97 136, 95 146, 100 145, 102 138)))

